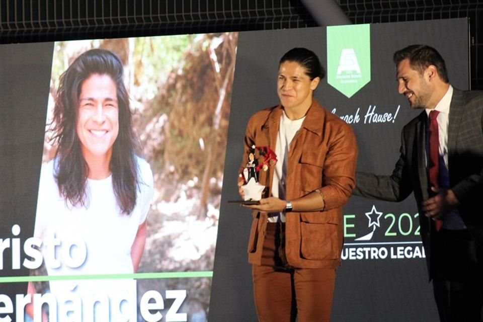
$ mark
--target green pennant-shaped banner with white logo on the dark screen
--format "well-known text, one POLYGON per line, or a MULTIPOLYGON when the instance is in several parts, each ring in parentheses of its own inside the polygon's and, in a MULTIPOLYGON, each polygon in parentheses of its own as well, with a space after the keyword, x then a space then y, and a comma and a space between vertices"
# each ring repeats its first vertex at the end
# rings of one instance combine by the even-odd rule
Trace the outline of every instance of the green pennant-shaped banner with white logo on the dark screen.
POLYGON ((347 97, 371 80, 370 26, 327 27, 327 82, 347 97))

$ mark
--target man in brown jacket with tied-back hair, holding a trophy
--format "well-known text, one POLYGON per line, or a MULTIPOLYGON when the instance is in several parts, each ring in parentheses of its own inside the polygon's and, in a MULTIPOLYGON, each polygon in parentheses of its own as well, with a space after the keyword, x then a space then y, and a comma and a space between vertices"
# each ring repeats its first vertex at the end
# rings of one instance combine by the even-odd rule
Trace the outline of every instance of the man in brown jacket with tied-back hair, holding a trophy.
POLYGON ((248 251, 261 321, 330 319, 357 145, 351 127, 313 100, 323 77, 313 52, 290 50, 279 65, 280 105, 257 112, 247 126, 240 174, 253 145, 278 158, 259 173, 265 198, 246 205, 253 209, 248 251))

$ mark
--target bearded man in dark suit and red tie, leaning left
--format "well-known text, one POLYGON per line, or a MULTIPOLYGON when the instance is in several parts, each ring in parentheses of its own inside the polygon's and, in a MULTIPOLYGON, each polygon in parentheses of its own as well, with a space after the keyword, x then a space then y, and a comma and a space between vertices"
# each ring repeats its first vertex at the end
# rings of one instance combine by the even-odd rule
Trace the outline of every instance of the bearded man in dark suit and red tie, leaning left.
POLYGON ((401 201, 414 192, 441 321, 481 321, 483 92, 449 84, 426 45, 394 53, 398 91, 423 112, 403 128, 390 176, 358 172, 355 195, 401 201))

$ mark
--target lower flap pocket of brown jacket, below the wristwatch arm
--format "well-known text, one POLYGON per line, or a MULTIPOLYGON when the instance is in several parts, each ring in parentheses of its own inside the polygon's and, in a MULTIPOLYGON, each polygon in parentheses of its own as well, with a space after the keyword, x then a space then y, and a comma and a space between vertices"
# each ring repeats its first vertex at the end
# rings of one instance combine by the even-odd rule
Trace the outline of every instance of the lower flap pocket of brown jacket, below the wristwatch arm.
POLYGON ((301 257, 307 260, 334 260, 340 257, 337 222, 300 222, 301 257))

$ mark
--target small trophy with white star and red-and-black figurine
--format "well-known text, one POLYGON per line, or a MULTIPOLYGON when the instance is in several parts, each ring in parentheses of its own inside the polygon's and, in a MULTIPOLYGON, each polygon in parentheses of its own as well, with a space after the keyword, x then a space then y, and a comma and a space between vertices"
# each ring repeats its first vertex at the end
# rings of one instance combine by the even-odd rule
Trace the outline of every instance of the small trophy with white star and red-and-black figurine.
POLYGON ((241 189, 243 189, 245 195, 244 201, 258 201, 262 199, 265 186, 258 182, 258 173, 260 170, 267 171, 269 166, 274 166, 276 163, 277 156, 270 147, 252 145, 248 153, 247 166, 243 170, 245 185, 241 186, 241 189), (261 163, 256 157, 257 154, 263 158, 261 163))

